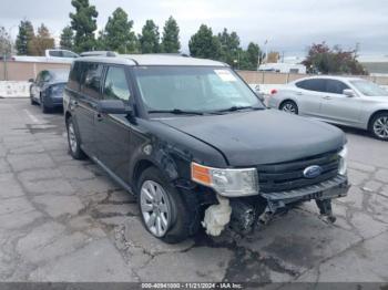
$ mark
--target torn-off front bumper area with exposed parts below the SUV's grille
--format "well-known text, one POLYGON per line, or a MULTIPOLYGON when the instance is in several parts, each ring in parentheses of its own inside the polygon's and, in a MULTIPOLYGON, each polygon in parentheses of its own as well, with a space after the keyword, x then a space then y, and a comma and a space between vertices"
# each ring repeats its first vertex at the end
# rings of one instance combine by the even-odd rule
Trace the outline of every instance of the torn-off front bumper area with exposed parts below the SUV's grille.
MULTIPOLYGON (((217 235, 214 236, 218 236, 229 221, 233 229, 247 234, 254 229, 257 221, 266 224, 278 209, 312 199, 316 200, 320 215, 327 218, 329 222, 334 222, 331 199, 346 196, 349 187, 347 177, 338 175, 319 184, 294 190, 261 193, 258 196, 229 198, 229 203, 219 203, 217 206, 206 210, 208 216, 205 218, 203 226, 206 228, 206 232, 212 236, 213 229, 217 229, 217 235), (227 210, 229 207, 232 210, 227 210), (226 213, 226 216, 225 214, 219 215, 216 210, 226 213), (224 222, 210 222, 210 216, 214 216, 213 220, 221 219, 224 222)), ((217 198, 227 199, 221 196, 217 196, 217 198)))

